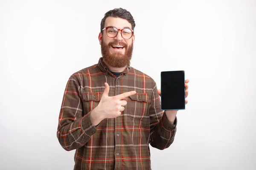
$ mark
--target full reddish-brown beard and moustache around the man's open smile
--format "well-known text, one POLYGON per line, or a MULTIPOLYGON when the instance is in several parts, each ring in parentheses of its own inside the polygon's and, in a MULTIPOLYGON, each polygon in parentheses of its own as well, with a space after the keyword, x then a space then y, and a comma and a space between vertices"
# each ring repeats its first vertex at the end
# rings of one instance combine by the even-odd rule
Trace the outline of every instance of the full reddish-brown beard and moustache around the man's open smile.
POLYGON ((114 68, 122 68, 126 65, 130 65, 130 60, 133 51, 133 41, 131 45, 127 45, 125 42, 113 41, 106 44, 102 39, 101 52, 102 58, 104 61, 111 67, 114 68), (121 54, 119 52, 110 54, 109 49, 112 48, 113 45, 122 45, 125 48, 125 54, 121 54))

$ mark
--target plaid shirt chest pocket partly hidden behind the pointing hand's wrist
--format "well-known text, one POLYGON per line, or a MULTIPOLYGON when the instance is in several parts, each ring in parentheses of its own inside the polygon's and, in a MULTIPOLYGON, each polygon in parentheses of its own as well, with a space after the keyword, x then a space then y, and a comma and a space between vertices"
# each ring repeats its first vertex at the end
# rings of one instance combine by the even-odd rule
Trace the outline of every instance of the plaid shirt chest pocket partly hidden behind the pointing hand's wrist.
POLYGON ((99 105, 103 92, 85 92, 82 93, 82 101, 84 106, 84 115, 92 111, 99 105))

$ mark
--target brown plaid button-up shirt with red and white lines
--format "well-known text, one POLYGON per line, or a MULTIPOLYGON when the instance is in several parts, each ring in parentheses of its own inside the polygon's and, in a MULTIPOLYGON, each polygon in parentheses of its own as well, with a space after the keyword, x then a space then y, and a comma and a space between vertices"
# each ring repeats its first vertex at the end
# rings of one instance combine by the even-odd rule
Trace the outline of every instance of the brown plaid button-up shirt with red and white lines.
POLYGON ((154 80, 128 66, 115 77, 99 63, 74 73, 67 82, 59 115, 57 136, 65 150, 74 150, 74 170, 150 170, 150 150, 163 150, 172 144, 177 119, 171 124, 160 109, 154 80), (125 110, 119 117, 104 119, 96 127, 91 111, 99 104, 105 89, 109 96, 128 91, 125 110))

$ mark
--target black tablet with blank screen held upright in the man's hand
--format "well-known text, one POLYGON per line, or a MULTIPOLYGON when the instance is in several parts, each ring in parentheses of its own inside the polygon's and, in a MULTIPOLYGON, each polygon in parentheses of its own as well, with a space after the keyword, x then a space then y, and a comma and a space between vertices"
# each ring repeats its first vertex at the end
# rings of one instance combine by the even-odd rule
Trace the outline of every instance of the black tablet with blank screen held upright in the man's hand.
POLYGON ((161 72, 161 109, 185 109, 185 72, 161 72))

